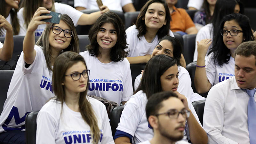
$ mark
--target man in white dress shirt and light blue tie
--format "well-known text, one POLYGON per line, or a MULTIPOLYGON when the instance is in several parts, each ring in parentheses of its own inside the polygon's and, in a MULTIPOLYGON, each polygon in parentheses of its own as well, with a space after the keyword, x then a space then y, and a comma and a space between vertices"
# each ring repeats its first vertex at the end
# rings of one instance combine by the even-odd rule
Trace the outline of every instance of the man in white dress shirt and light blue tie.
POLYGON ((205 102, 209 144, 256 143, 256 41, 240 44, 235 53, 235 76, 214 85, 205 102))

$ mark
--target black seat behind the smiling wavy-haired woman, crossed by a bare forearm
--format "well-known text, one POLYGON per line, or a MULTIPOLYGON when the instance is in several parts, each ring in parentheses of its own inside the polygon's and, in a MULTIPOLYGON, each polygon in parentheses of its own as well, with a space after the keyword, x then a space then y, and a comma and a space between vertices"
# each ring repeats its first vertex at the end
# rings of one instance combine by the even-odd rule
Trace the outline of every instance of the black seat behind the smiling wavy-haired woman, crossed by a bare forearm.
MULTIPOLYGON (((98 12, 99 10, 82 10, 81 12, 86 13, 86 14, 90 14, 92 12, 98 12)), ((124 13, 120 12, 120 11, 113 11, 110 10, 111 12, 116 13, 124 22, 125 24, 125 19, 124 19, 124 13)), ((76 32, 78 35, 88 35, 90 28, 92 27, 92 25, 78 25, 76 26, 76 32)))

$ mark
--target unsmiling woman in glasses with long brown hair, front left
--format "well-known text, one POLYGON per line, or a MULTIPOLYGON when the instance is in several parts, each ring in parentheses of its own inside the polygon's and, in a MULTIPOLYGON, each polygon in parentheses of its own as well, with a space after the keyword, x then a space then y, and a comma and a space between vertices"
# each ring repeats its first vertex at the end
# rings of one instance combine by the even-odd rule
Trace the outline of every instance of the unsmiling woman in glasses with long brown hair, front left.
POLYGON ((84 58, 64 52, 54 62, 55 97, 39 111, 36 143, 114 144, 105 105, 86 96, 89 73, 84 58))

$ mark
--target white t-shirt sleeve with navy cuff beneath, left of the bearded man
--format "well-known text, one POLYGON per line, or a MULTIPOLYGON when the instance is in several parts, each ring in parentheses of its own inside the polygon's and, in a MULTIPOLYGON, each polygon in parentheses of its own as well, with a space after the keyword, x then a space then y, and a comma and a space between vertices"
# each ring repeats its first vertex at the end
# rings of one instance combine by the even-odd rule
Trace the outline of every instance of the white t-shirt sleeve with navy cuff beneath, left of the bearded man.
POLYGON ((116 130, 126 132, 134 136, 142 116, 139 108, 140 105, 138 104, 138 100, 136 100, 134 97, 125 103, 124 110, 122 111, 120 122, 116 130))

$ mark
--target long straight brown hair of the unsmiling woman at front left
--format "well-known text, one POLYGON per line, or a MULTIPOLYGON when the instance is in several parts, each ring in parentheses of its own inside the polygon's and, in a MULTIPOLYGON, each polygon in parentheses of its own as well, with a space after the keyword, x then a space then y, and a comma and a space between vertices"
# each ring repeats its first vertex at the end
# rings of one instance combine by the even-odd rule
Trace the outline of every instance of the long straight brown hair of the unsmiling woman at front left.
MULTIPOLYGON (((61 112, 63 107, 63 102, 65 102, 66 94, 65 87, 61 83, 65 80, 66 71, 68 68, 72 67, 78 62, 83 62, 86 69, 86 63, 84 58, 76 52, 64 52, 60 54, 54 62, 53 73, 52 73, 52 83, 53 91, 57 96, 57 100, 61 102, 61 112)), ((90 126, 93 136, 93 144, 97 144, 100 140, 100 129, 98 127, 98 121, 94 115, 94 111, 90 102, 86 98, 86 93, 89 85, 89 77, 87 81, 87 88, 84 92, 80 92, 79 98, 79 111, 82 115, 84 121, 90 126)))

